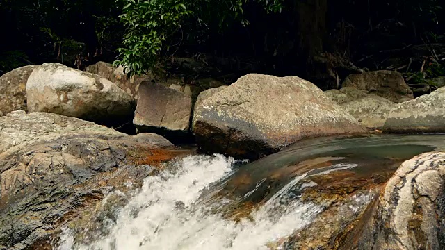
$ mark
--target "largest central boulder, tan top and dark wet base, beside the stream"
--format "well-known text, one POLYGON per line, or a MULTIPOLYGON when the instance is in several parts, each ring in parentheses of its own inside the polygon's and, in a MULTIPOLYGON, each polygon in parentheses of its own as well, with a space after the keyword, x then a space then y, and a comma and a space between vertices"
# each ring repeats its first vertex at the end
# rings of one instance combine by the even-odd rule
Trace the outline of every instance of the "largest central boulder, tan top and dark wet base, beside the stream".
POLYGON ((197 106, 198 149, 255 159, 302 138, 364 133, 314 84, 296 76, 243 76, 197 106))

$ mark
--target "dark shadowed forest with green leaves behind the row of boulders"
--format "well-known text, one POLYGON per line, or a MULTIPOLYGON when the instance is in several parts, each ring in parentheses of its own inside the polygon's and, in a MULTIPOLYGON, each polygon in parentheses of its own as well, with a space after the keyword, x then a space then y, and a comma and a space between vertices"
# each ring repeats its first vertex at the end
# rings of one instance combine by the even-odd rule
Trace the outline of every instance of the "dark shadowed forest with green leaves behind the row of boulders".
POLYGON ((0 74, 102 60, 127 74, 231 82, 250 72, 338 88, 348 74, 403 73, 412 88, 445 76, 436 0, 1 0, 0 74))

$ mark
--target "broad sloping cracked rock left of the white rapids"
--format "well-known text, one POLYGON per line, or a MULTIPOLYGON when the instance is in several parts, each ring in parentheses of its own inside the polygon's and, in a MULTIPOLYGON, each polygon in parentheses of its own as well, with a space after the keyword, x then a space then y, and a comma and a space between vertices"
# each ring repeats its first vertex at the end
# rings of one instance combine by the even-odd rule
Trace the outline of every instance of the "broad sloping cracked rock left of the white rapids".
POLYGON ((67 219, 85 218, 109 190, 141 183, 175 156, 163 147, 172 144, 159 135, 125 135, 74 117, 0 117, 0 249, 51 249, 36 244, 67 219))

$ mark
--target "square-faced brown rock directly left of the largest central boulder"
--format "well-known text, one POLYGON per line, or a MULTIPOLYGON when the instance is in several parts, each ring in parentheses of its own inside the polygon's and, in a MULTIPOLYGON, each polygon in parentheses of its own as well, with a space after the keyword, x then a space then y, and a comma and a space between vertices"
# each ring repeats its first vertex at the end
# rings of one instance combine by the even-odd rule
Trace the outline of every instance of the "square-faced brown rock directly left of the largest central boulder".
POLYGON ((157 133, 168 140, 189 134, 192 99, 159 83, 142 82, 133 124, 138 131, 157 133))

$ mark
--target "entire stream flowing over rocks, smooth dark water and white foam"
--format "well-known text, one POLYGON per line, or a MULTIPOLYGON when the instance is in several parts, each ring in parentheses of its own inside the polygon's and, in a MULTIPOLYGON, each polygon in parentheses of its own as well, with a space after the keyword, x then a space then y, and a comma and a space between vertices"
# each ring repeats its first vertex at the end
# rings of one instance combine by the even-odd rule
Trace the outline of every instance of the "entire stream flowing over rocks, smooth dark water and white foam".
MULTIPOLYGON (((76 241, 76 234, 64 228, 56 248, 295 247, 329 211, 341 214, 337 222, 349 223, 346 217, 361 213, 373 199, 373 188, 385 183, 403 160, 444 149, 444 139, 382 135, 307 140, 253 163, 221 155, 187 156, 147 177, 115 215, 101 215, 106 222, 100 225, 102 233, 83 232, 88 237, 76 241)), ((102 201, 104 206, 109 202, 113 200, 102 201)))

